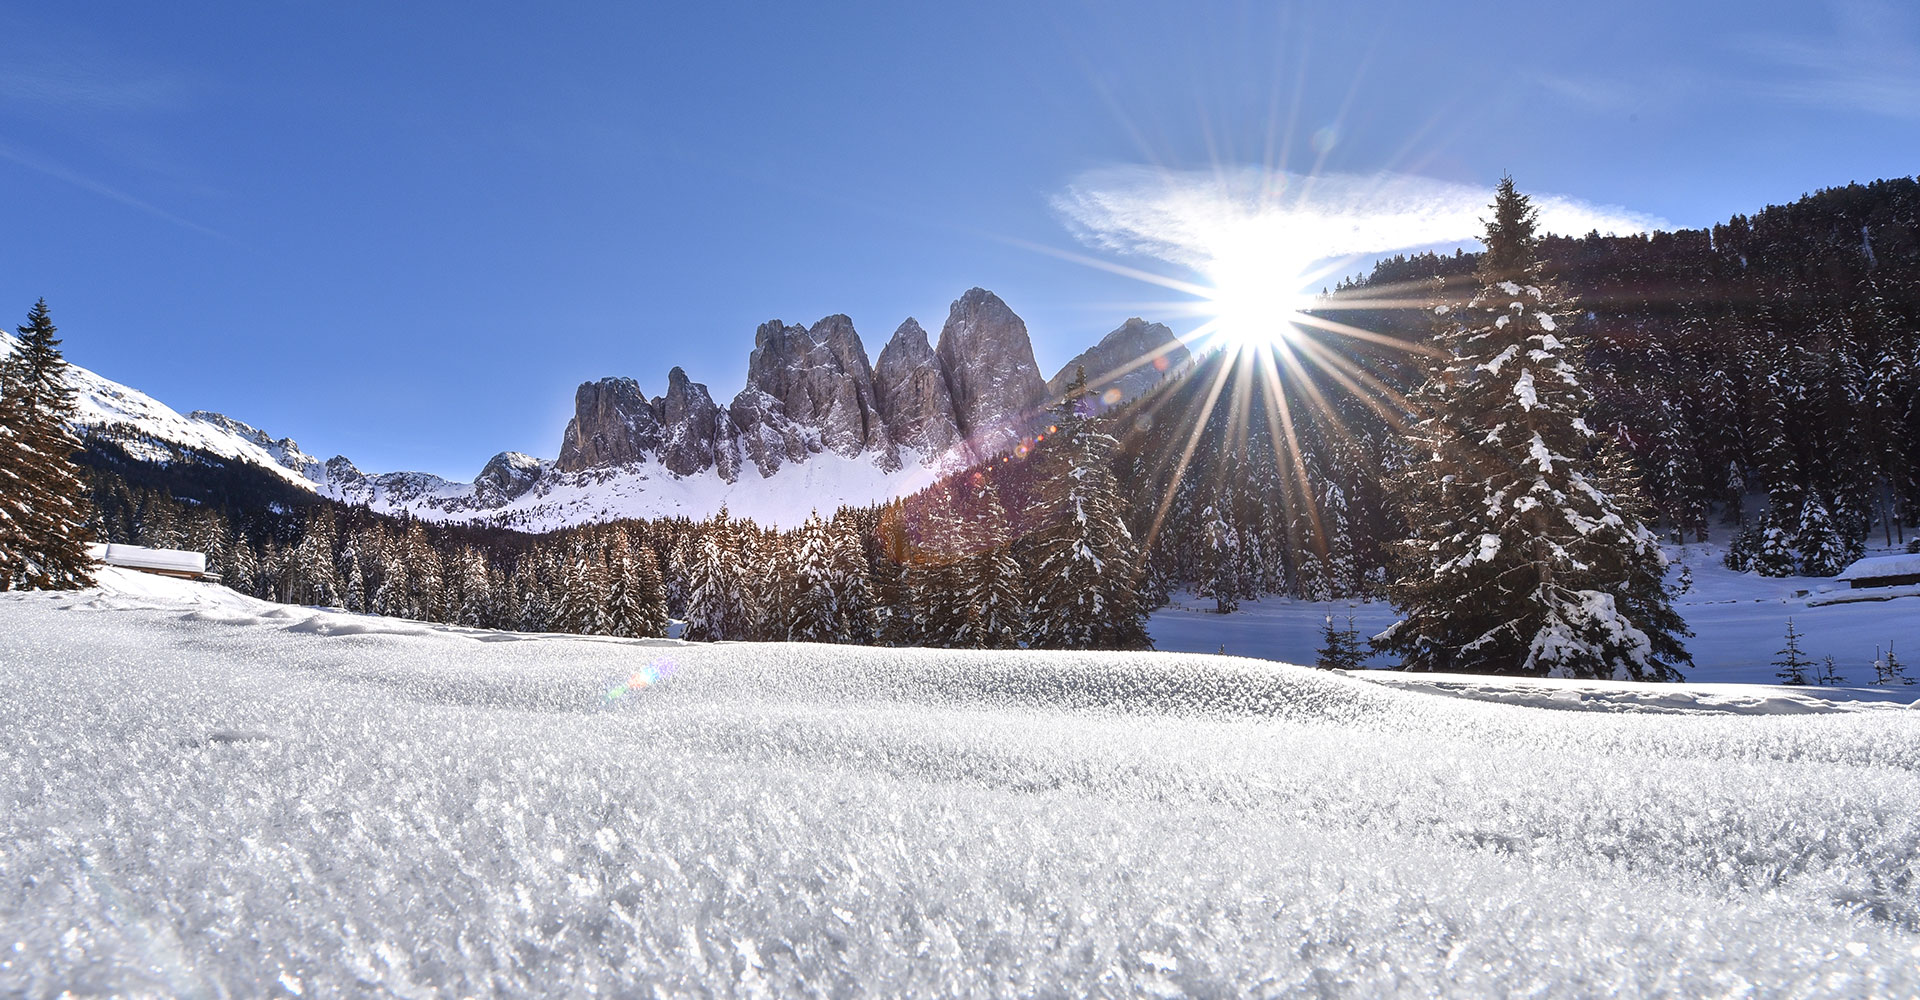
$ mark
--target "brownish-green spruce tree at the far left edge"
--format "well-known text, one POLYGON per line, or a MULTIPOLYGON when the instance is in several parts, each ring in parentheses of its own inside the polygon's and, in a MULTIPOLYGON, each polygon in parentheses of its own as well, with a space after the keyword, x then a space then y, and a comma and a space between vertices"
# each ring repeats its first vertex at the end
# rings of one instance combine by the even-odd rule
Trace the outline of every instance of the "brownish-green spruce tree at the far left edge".
POLYGON ((73 453, 67 359, 46 299, 0 359, 0 591, 92 583, 92 505, 73 453))

